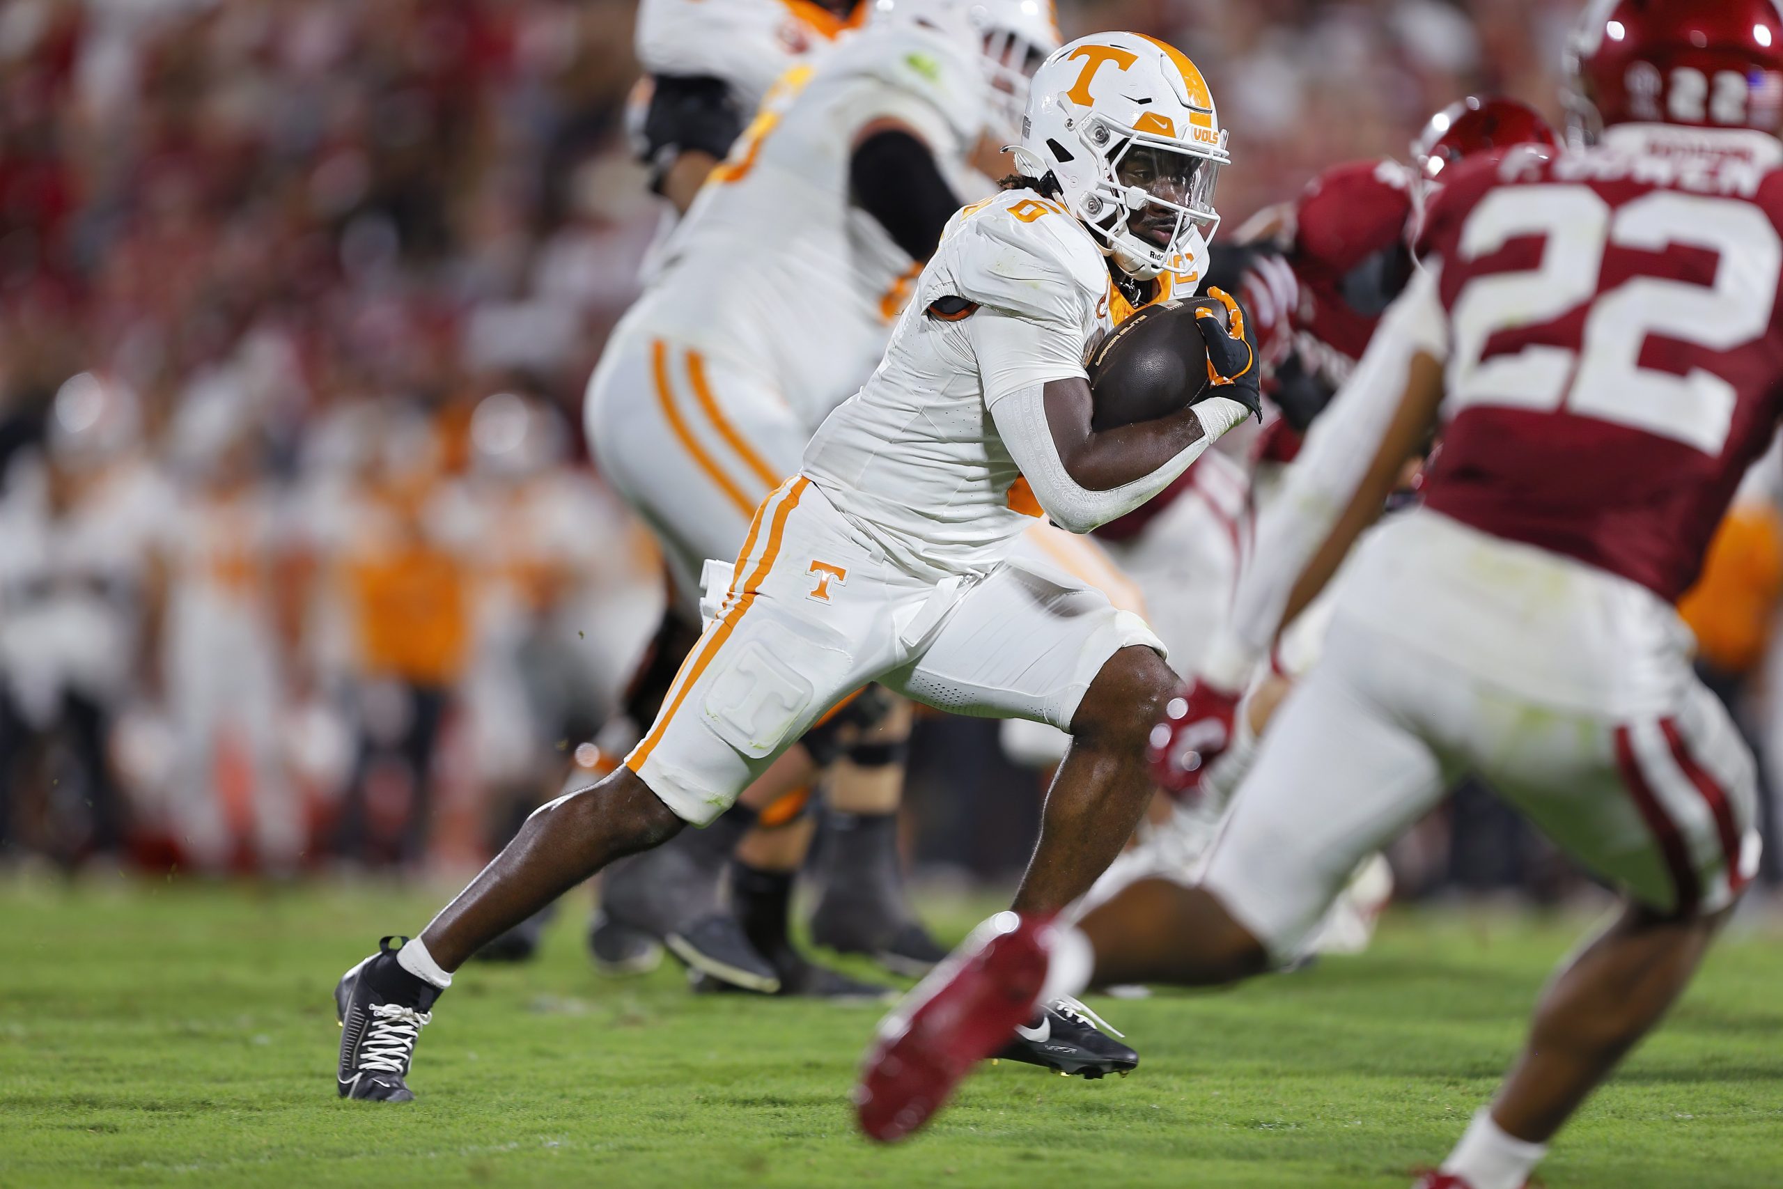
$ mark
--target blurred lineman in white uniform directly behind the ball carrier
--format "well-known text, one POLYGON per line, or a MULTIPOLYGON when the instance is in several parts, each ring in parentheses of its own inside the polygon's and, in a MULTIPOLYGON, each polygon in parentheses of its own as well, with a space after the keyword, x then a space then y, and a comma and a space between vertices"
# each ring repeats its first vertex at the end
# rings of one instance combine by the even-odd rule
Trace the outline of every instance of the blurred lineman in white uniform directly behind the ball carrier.
MULTIPOLYGON (((656 717, 699 635, 704 563, 736 556, 756 506, 879 362, 959 191, 991 185, 972 164, 995 169, 1018 134, 1006 100, 1025 93, 1029 59, 1038 66, 1056 46, 1038 0, 877 4, 822 62, 776 84, 669 237, 588 385, 588 442, 656 533, 679 595, 628 697, 631 738, 613 738, 612 724, 603 747, 624 754, 656 717), (713 262, 724 262, 717 275, 713 262)), ((918 972, 940 961, 899 873, 906 734, 908 713, 868 690, 720 827, 615 865, 590 934, 596 961, 624 968, 642 934, 727 986, 881 995, 813 966, 788 939, 811 829, 799 809, 831 765, 815 939, 918 972)))

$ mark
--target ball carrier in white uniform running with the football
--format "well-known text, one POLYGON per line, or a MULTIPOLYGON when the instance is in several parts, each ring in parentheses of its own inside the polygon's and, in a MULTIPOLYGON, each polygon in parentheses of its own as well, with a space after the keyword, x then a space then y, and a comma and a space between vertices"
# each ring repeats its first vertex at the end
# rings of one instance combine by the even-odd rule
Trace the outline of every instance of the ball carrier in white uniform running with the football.
MULTIPOLYGON (((612 859, 717 818, 831 706, 879 681, 961 713, 1039 718, 1072 752, 1016 906, 1080 897, 1152 795, 1143 747, 1175 685, 1136 615, 1041 565, 1011 565, 1016 483, 1086 531, 1182 474, 1261 398, 1243 319, 1211 314, 1214 394, 1091 430, 1084 373, 1114 289, 1198 276, 1225 132, 1200 71, 1136 34, 1084 37, 1034 75, 1009 189, 961 210, 867 385, 756 510, 715 613, 620 770, 542 806, 415 941, 337 988, 339 1093, 412 1098, 440 991, 481 943, 612 859)), ((1232 310, 1236 312, 1236 303, 1232 310)))

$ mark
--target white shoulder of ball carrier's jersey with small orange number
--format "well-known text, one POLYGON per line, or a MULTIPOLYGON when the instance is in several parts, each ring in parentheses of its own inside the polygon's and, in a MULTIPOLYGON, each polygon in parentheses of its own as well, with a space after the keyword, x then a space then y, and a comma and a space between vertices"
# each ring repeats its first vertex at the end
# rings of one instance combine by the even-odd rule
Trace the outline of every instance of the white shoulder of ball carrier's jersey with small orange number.
POLYGON ((1089 232, 1032 191, 1009 191, 954 216, 940 255, 947 267, 936 282, 947 294, 1022 317, 1077 323, 1107 291, 1107 266, 1089 232))

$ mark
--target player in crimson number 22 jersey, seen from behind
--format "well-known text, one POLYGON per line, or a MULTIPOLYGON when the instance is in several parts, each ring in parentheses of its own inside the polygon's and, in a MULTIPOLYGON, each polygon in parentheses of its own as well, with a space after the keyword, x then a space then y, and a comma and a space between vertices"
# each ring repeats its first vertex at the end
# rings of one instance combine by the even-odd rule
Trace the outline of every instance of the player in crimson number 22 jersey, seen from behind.
POLYGON ((1524 1185, 1690 980, 1758 863, 1753 758, 1692 672, 1672 603, 1783 412, 1783 5, 1598 0, 1569 59, 1596 144, 1457 169, 1426 269, 1314 426, 1239 620, 1166 724, 1171 758, 1216 750, 1236 704, 1220 690, 1319 590, 1441 417, 1425 506, 1344 570, 1325 656, 1264 736, 1202 886, 1161 898, 1120 963, 1038 918, 984 929, 954 979, 890 1021, 865 1084, 874 1134, 920 1125, 1029 995, 1268 970, 1355 861, 1464 772, 1624 909, 1557 975, 1423 1189, 1524 1185))

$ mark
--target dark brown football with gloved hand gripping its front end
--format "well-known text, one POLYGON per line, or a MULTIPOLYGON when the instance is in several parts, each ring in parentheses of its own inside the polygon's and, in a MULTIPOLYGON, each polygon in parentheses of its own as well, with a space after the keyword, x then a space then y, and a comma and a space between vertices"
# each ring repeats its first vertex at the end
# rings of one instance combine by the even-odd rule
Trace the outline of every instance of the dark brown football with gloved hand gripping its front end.
POLYGON ((1209 396, 1262 417, 1257 348, 1245 312, 1221 289, 1132 314, 1089 357, 1091 430, 1168 417, 1209 396))

